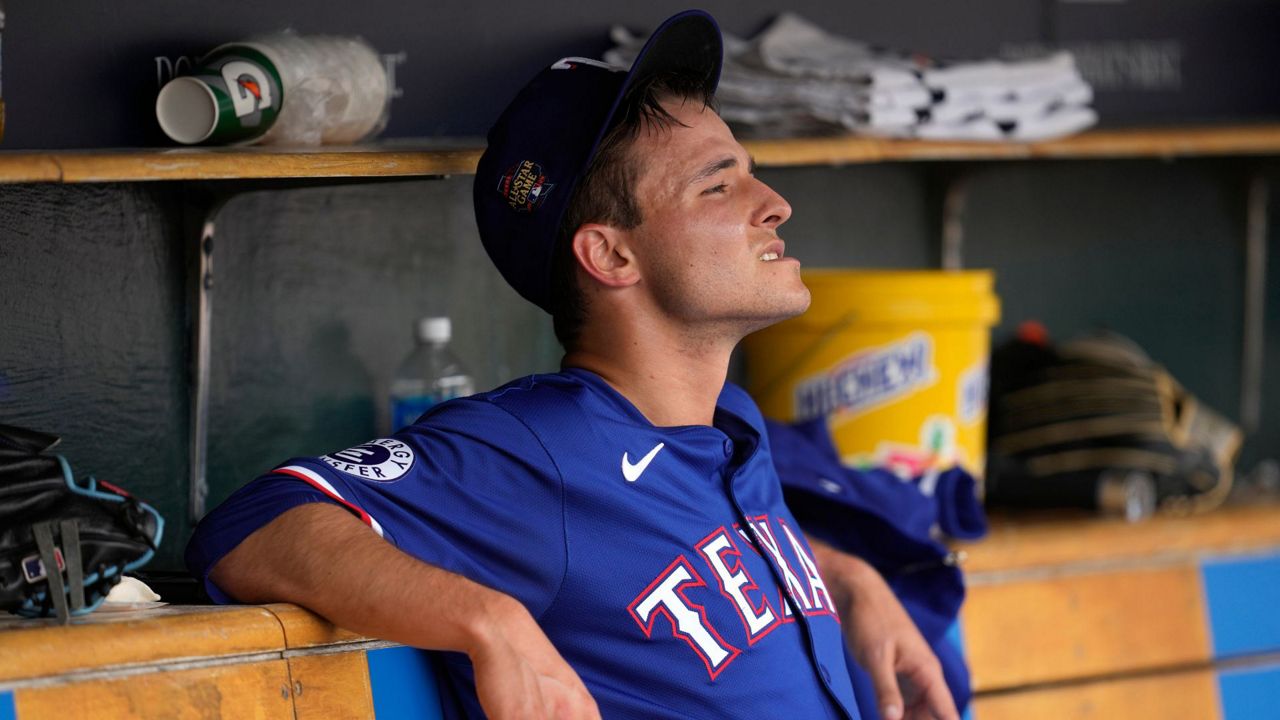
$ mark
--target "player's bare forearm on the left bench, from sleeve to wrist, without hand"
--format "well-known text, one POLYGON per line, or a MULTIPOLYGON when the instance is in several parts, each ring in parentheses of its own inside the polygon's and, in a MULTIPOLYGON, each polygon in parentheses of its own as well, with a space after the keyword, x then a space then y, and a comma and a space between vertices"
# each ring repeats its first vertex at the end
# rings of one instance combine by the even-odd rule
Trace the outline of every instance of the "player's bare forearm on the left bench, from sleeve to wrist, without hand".
POLYGON ((219 561, 210 577, 241 602, 293 602, 348 630, 415 647, 471 652, 507 616, 507 594, 416 560, 348 511, 288 510, 219 561))

